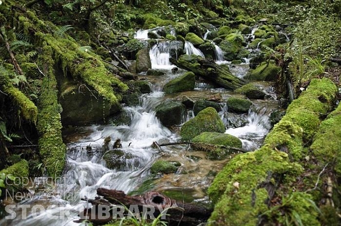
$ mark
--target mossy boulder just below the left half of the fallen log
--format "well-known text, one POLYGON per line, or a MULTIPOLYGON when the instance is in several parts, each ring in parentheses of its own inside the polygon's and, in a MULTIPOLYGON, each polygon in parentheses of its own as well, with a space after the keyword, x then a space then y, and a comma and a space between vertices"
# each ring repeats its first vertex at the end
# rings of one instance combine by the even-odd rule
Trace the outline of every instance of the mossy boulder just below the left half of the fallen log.
POLYGON ((175 93, 193 90, 195 86, 195 75, 193 72, 186 72, 185 74, 170 80, 164 87, 165 93, 175 93))

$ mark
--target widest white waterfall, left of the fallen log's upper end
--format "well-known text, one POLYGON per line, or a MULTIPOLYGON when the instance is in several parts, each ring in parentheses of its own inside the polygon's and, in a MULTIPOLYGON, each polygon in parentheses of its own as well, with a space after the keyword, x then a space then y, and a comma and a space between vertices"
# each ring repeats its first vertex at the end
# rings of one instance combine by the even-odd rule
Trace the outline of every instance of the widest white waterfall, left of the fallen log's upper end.
POLYGON ((149 51, 153 69, 171 69, 169 41, 158 42, 149 51))

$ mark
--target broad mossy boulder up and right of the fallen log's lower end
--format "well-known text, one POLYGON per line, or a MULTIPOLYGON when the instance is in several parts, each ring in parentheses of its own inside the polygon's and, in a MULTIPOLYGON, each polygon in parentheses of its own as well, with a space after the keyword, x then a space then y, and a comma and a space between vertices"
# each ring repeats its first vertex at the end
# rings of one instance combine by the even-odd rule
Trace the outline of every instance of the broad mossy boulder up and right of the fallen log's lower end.
POLYGON ((258 81, 275 81, 280 71, 281 68, 277 67, 275 64, 267 64, 266 62, 263 62, 255 70, 252 70, 249 73, 248 79, 258 81))

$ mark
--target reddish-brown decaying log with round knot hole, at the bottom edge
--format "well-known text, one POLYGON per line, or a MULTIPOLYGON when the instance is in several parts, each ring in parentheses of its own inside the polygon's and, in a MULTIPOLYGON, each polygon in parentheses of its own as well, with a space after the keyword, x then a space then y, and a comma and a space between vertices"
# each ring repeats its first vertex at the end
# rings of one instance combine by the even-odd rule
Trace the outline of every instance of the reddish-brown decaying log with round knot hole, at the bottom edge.
MULTIPOLYGON (((86 200, 93 205, 93 208, 85 209, 84 212, 80 214, 80 216, 88 216, 90 218, 88 221, 95 225, 107 224, 116 217, 111 215, 108 219, 100 219, 100 217, 97 216, 99 205, 111 206, 112 209, 115 208, 114 205, 124 205, 127 209, 129 209, 131 205, 137 205, 140 212, 143 211, 144 205, 150 205, 155 209, 155 212, 153 213, 155 218, 163 209, 172 206, 173 208, 167 210, 165 219, 165 221, 169 222, 170 226, 196 226, 207 221, 211 214, 210 209, 176 201, 154 191, 146 192, 144 195, 130 196, 126 195, 123 191, 98 188, 97 194, 103 196, 103 198, 96 197, 95 200, 86 200), (95 211, 95 214, 92 211, 95 211), (95 216, 94 219, 92 219, 92 215, 95 216)), ((124 215, 127 216, 128 211, 126 211, 124 215)), ((82 222, 83 220, 84 218, 80 217, 80 219, 75 222, 82 222)))

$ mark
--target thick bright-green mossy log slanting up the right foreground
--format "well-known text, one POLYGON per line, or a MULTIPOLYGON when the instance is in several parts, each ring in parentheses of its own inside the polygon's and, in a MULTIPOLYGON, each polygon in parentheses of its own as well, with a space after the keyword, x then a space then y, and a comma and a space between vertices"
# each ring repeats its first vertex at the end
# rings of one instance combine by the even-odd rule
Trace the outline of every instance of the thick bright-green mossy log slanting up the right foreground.
POLYGON ((227 163, 208 189, 215 204, 208 225, 272 225, 284 223, 285 218, 295 222, 295 215, 304 226, 319 225, 312 196, 293 193, 292 186, 303 173, 304 144, 319 128, 321 114, 331 110, 336 91, 330 80, 313 79, 267 135, 262 148, 227 163), (275 198, 280 201, 274 202, 275 198))

